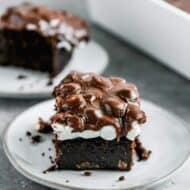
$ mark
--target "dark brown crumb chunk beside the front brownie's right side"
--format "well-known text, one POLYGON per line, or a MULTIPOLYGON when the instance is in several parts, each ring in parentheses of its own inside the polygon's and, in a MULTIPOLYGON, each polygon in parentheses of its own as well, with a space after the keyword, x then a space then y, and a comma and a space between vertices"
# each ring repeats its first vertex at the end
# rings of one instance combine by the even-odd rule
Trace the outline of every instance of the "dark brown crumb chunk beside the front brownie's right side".
POLYGON ((150 157, 152 151, 146 150, 144 148, 143 144, 139 141, 139 139, 136 139, 135 143, 136 143, 135 151, 137 153, 139 161, 148 160, 148 158, 150 157))

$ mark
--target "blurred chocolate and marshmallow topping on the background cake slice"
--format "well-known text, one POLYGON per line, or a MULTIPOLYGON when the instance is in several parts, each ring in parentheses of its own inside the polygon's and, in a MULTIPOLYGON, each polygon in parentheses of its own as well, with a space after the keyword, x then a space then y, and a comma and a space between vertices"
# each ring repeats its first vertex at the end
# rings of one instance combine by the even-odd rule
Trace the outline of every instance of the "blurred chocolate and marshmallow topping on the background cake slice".
POLYGON ((8 8, 1 16, 0 28, 25 29, 50 38, 54 37, 58 42, 62 42, 58 44, 58 48, 62 46, 70 48, 70 45, 76 46, 89 39, 89 28, 78 16, 30 3, 8 8), (66 42, 69 45, 65 45, 66 42))

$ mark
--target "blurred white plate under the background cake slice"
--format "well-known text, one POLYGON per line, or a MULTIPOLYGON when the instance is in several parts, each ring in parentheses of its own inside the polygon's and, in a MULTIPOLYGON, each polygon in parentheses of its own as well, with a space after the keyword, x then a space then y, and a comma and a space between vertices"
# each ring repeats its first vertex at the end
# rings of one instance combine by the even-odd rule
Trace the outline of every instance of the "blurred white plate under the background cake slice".
POLYGON ((0 97, 12 98, 43 98, 50 97, 53 87, 70 71, 101 73, 108 64, 106 51, 96 42, 89 42, 84 48, 78 48, 73 58, 63 71, 48 86, 48 74, 24 70, 15 67, 0 66, 0 97), (25 75, 25 79, 17 79, 25 75))

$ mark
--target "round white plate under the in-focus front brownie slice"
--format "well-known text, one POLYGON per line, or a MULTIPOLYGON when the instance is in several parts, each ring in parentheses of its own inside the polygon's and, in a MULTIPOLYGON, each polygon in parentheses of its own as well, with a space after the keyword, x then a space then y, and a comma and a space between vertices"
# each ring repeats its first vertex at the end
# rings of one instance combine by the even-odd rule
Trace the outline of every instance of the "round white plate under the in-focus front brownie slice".
POLYGON ((43 136, 38 145, 30 143, 26 131, 35 133, 35 122, 39 116, 44 119, 54 112, 54 101, 38 104, 18 116, 4 133, 4 150, 13 166, 29 179, 56 189, 136 189, 159 184, 174 174, 189 158, 190 133, 183 121, 164 109, 143 101, 143 109, 149 121, 143 127, 141 140, 152 150, 148 161, 135 161, 130 172, 92 171, 87 177, 80 171, 55 171, 43 174, 51 164, 49 155, 54 156, 51 136, 43 136), (19 141, 22 138, 22 141, 19 141), (48 151, 51 147, 52 151, 48 151), (45 156, 41 156, 44 152, 45 156), (118 181, 125 176, 124 181, 118 181), (67 181, 69 180, 69 182, 67 181))

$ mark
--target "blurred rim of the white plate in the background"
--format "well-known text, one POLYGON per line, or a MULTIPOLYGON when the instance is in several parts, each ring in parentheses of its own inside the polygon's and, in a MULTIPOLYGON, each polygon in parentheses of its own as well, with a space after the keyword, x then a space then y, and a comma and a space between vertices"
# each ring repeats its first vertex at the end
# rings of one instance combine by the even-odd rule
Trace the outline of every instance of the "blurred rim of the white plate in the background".
MULTIPOLYGON (((103 73, 105 71, 105 69, 109 65, 109 62, 110 62, 109 54, 108 54, 107 50, 104 48, 104 46, 102 46, 102 44, 99 43, 98 41, 96 41, 95 39, 91 39, 89 41, 89 44, 90 43, 96 45, 105 54, 105 64, 103 65, 101 71, 98 72, 98 74, 101 74, 101 73, 103 73)), ((70 64, 70 62, 68 62, 68 64, 70 64)), ((52 86, 52 89, 53 88, 54 87, 52 86)), ((50 90, 49 93, 47 91, 41 91, 41 92, 14 92, 14 93, 0 91, 0 98, 8 98, 8 99, 14 99, 14 98, 17 98, 17 99, 22 99, 22 98, 23 99, 51 98, 51 92, 52 92, 52 90, 50 90)))

